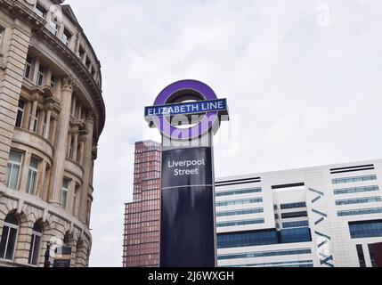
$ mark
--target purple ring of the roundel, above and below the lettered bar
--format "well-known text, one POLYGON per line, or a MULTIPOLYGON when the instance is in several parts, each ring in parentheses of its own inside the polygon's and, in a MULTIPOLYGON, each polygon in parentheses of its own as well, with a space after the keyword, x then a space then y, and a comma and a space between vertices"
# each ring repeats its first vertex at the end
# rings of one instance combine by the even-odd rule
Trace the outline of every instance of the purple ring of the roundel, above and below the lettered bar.
MULTIPOLYGON (((155 106, 166 105, 170 97, 180 91, 194 91, 200 94, 203 97, 203 100, 216 100, 217 96, 214 90, 211 89, 208 85, 197 80, 181 80, 168 85, 160 94, 154 103, 155 106)), ((164 117, 155 117, 154 124, 158 127, 160 133, 166 135, 167 137, 176 139, 176 140, 191 140, 199 137, 201 134, 207 133, 211 126, 214 126, 218 119, 218 112, 209 112, 199 121, 196 126, 190 128, 177 128, 172 126, 166 118, 164 117)))

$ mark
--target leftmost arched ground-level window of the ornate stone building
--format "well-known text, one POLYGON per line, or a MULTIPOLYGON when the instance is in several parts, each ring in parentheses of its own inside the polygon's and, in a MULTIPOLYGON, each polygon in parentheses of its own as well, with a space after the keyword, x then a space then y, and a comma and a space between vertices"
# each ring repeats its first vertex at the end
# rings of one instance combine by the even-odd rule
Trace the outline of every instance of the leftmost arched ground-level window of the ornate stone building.
POLYGON ((18 232, 19 220, 17 217, 12 214, 6 216, 0 242, 0 258, 13 260, 18 232))

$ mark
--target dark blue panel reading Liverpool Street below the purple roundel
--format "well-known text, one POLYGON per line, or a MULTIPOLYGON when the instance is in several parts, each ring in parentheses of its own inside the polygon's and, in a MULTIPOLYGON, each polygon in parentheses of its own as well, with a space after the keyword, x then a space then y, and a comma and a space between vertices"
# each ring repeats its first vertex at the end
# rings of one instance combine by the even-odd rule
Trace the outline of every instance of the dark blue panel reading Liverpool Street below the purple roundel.
POLYGON ((161 267, 215 267, 211 148, 162 152, 161 267))

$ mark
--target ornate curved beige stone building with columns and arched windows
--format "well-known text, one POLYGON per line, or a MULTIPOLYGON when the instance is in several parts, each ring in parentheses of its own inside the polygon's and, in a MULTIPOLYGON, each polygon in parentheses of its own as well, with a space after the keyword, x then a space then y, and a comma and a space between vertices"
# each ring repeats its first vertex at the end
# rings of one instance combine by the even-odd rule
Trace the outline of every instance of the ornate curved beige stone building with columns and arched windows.
POLYGON ((62 3, 0 0, 0 266, 43 266, 48 241, 88 265, 101 66, 62 3))

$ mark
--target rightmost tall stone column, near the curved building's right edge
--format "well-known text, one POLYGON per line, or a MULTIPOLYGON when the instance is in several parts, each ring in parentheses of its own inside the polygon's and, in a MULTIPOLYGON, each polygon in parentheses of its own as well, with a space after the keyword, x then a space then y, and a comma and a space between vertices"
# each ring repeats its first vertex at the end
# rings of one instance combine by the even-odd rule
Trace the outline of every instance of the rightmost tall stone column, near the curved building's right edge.
POLYGON ((92 151, 93 151, 93 127, 94 127, 94 116, 92 113, 88 113, 86 115, 86 129, 87 129, 87 137, 85 142, 85 151, 84 151, 84 183, 82 184, 81 189, 81 199, 80 199, 80 212, 78 214, 78 218, 84 224, 86 223, 87 216, 87 196, 89 194, 89 181, 91 175, 91 167, 92 167, 92 151))

